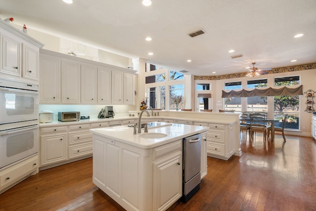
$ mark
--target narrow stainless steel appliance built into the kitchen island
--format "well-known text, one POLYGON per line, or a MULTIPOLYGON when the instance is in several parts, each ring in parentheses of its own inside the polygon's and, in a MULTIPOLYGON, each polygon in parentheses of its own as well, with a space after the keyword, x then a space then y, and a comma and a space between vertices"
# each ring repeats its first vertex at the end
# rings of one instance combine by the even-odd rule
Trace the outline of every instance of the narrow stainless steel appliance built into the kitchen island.
POLYGON ((183 201, 187 202, 198 190, 201 181, 200 134, 183 139, 183 201))

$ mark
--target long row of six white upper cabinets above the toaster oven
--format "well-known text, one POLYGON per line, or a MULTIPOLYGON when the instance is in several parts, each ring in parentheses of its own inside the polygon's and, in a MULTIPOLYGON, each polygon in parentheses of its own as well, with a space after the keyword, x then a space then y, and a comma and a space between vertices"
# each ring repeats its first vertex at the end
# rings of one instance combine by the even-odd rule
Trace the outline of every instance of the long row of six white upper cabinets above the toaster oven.
POLYGON ((134 105, 135 70, 40 50, 40 104, 134 105))

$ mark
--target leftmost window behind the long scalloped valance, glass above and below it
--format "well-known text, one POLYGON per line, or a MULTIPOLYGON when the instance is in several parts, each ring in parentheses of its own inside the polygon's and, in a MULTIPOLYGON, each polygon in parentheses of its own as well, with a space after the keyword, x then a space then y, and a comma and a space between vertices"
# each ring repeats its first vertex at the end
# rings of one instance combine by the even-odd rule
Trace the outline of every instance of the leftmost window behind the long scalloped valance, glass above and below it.
MULTIPOLYGON (((225 90, 241 89, 241 81, 225 83, 225 90)), ((241 111, 241 98, 224 98, 225 110, 241 111)))

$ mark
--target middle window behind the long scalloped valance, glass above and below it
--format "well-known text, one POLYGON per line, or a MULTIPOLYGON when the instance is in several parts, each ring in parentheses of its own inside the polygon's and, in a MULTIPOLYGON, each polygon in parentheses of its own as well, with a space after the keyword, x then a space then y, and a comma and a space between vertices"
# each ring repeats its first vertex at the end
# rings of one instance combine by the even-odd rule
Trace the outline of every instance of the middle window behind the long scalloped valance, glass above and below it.
MULTIPOLYGON (((268 86, 268 79, 248 80, 247 88, 260 88, 268 86)), ((248 97, 247 111, 267 111, 267 97, 248 97)))

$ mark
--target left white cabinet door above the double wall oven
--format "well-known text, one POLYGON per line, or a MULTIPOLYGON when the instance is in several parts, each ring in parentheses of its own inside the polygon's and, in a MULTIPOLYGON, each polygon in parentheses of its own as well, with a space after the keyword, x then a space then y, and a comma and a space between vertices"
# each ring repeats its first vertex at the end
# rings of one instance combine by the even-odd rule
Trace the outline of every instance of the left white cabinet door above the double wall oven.
POLYGON ((10 37, 1 36, 1 72, 21 76, 21 42, 10 37))

